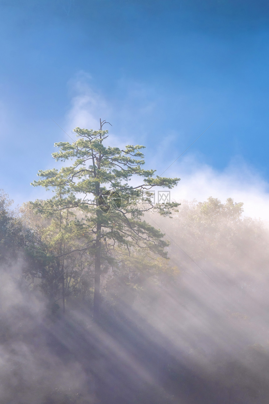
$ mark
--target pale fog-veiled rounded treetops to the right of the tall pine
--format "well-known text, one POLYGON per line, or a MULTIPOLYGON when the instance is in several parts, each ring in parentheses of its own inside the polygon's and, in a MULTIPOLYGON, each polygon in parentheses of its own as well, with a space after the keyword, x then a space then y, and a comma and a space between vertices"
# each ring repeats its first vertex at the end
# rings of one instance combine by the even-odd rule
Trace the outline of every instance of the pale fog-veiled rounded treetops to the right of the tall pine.
MULTIPOLYGON (((257 263, 261 269, 267 268, 266 229, 260 221, 243 216, 242 202, 228 198, 222 203, 212 197, 204 202, 182 201, 172 227, 164 219, 158 223, 205 271, 214 267, 218 273, 232 271, 240 278, 257 263)), ((188 267, 190 259, 182 250, 176 247, 170 256, 188 267)))

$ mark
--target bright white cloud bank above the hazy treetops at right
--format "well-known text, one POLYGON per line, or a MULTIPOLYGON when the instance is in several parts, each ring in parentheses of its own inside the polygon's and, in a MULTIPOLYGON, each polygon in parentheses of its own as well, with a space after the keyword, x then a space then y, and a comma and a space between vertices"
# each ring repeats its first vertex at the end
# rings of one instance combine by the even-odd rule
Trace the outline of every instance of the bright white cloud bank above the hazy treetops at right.
POLYGON ((171 191, 173 199, 204 201, 209 196, 225 202, 233 198, 244 202, 244 214, 269 221, 269 184, 259 173, 238 158, 219 172, 206 164, 199 164, 193 156, 186 156, 176 165, 176 170, 165 173, 180 177, 178 186, 171 191))

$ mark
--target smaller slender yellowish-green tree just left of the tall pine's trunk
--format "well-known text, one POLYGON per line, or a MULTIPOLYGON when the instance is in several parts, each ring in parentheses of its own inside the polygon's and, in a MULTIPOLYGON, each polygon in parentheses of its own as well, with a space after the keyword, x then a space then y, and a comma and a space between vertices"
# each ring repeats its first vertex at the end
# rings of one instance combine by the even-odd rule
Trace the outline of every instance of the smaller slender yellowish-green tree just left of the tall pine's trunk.
POLYGON ((85 254, 91 240, 76 217, 77 204, 74 195, 59 185, 54 189, 54 196, 49 200, 30 202, 33 212, 38 212, 47 219, 46 226, 41 227, 41 239, 46 245, 46 254, 51 257, 42 273, 42 288, 50 298, 60 298, 64 287, 65 299, 89 291, 85 288, 85 273, 91 272, 92 258, 85 254))

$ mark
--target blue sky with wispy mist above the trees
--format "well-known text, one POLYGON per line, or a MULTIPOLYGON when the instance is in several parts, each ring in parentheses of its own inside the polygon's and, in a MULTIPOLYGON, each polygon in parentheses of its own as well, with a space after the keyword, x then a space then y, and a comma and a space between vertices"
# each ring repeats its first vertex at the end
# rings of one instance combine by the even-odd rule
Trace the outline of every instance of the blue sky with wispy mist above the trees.
POLYGON ((166 175, 267 196, 267 2, 2 0, 0 31, 0 188, 16 202, 44 195, 29 184, 69 139, 52 119, 71 134, 100 117, 159 174, 218 118, 166 175))

